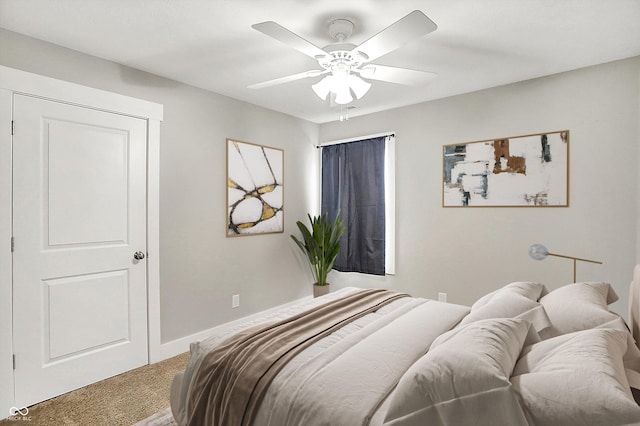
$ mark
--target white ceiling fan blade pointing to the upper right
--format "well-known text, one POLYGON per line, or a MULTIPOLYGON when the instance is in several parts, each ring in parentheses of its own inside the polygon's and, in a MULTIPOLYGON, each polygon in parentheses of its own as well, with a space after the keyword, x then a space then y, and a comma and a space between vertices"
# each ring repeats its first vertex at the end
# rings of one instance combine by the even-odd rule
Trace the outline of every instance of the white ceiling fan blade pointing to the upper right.
POLYGON ((373 61, 410 41, 435 31, 436 28, 438 26, 427 15, 419 10, 414 10, 360 46, 355 47, 351 53, 364 53, 367 61, 373 61))

